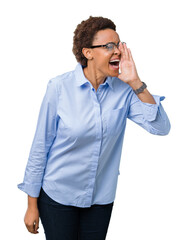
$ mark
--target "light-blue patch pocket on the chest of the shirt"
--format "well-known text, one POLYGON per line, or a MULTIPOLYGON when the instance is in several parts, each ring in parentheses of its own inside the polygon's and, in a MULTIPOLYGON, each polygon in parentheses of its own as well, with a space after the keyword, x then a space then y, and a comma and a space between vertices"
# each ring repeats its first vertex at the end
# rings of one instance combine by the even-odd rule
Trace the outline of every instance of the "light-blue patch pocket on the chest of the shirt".
POLYGON ((108 136, 118 135, 126 123, 126 108, 108 110, 104 115, 104 131, 108 136))

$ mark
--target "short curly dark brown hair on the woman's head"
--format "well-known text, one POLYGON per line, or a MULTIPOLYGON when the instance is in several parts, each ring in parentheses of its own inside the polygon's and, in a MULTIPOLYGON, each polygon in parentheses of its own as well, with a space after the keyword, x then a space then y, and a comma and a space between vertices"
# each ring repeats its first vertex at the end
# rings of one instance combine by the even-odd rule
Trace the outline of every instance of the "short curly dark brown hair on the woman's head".
POLYGON ((77 62, 87 66, 87 58, 82 53, 82 48, 89 48, 92 45, 95 34, 99 30, 110 28, 116 31, 116 25, 112 20, 103 17, 90 16, 87 20, 77 25, 74 31, 72 51, 77 62))

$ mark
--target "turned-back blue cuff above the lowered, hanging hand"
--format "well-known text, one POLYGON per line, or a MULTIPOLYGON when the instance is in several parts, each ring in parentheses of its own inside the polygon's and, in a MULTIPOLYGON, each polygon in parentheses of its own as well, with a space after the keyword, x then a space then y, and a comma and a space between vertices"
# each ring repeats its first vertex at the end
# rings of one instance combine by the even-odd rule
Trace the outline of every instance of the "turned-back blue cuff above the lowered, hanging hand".
POLYGON ((39 197, 41 184, 20 183, 17 187, 31 197, 39 197))

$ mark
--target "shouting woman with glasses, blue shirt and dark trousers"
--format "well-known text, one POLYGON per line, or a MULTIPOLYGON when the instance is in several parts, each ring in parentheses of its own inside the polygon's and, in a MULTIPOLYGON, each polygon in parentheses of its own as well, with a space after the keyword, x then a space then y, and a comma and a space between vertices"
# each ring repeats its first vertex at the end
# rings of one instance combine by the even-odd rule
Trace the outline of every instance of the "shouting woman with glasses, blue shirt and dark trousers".
POLYGON ((24 182, 25 224, 48 240, 103 240, 115 199, 121 150, 129 118, 166 135, 170 122, 136 71, 115 24, 82 21, 74 32, 74 71, 48 83, 24 182), (120 69, 119 69, 120 67, 120 69), (119 73, 119 70, 121 73, 119 73))

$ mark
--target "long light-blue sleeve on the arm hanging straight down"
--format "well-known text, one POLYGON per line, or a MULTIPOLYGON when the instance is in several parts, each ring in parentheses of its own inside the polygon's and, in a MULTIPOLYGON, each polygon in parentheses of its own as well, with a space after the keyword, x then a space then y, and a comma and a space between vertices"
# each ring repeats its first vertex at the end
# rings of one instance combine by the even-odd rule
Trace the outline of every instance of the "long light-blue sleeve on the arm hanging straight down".
POLYGON ((18 188, 31 197, 38 197, 42 186, 49 149, 56 137, 58 91, 56 83, 48 82, 43 98, 35 136, 31 146, 24 180, 18 188))

